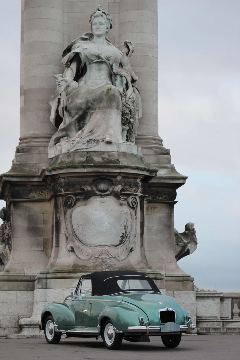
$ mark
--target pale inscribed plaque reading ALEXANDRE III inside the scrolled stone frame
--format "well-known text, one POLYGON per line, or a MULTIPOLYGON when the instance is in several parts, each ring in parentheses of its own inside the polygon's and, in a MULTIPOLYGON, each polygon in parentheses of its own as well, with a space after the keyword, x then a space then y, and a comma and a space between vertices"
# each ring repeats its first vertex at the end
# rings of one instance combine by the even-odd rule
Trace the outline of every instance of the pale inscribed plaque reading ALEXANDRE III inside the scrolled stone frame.
POLYGON ((131 224, 126 205, 112 198, 95 198, 72 212, 72 226, 77 238, 88 246, 115 247, 125 242, 131 224))

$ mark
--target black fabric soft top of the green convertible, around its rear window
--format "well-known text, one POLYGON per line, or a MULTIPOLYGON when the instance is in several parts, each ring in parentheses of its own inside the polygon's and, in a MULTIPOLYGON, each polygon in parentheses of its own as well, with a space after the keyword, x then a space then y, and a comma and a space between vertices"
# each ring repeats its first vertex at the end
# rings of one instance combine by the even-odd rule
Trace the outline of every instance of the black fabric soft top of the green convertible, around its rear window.
MULTIPOLYGON (((139 273, 138 271, 98 271, 96 273, 91 273, 87 275, 82 275, 82 279, 91 279, 92 280, 92 295, 111 295, 111 294, 117 294, 120 292, 129 292, 129 290, 123 290, 121 289, 118 284, 117 280, 122 279, 143 279, 147 280, 148 283, 151 286, 151 290, 148 291, 154 291, 154 292, 160 292, 157 288, 157 285, 154 283, 153 279, 151 279, 149 276, 147 276, 144 273, 139 273)), ((133 291, 133 290, 131 290, 133 291)), ((146 291, 146 290, 139 290, 136 289, 136 291, 146 291)))

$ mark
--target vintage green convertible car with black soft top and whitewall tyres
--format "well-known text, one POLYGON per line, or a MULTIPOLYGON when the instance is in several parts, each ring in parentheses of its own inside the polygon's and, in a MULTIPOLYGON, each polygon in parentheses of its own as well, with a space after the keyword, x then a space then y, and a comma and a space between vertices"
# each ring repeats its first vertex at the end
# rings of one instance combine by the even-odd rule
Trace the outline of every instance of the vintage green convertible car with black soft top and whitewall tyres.
POLYGON ((83 275, 76 291, 63 303, 44 306, 40 325, 50 344, 57 344, 62 334, 101 336, 112 350, 118 349, 123 339, 148 342, 149 336, 161 336, 166 347, 176 347, 182 332, 194 328, 189 312, 163 295, 153 279, 136 271, 83 275))

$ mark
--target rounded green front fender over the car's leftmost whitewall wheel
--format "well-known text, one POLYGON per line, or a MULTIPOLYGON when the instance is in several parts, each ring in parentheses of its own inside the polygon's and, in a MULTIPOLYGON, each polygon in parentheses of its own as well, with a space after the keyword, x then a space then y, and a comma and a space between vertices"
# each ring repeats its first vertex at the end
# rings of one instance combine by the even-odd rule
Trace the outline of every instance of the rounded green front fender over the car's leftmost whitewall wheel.
POLYGON ((53 316, 54 322, 58 325, 59 330, 65 330, 65 314, 69 310, 69 307, 63 303, 53 302, 46 304, 42 308, 41 322, 42 328, 44 328, 44 322, 47 315, 50 313, 53 316))

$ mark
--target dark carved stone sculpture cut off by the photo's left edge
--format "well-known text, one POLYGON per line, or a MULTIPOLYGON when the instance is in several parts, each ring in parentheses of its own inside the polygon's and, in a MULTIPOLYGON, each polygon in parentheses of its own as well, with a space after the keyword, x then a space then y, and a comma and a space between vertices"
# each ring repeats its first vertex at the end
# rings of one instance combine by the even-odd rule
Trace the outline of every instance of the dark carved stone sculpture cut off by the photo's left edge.
POLYGON ((4 207, 0 211, 3 224, 0 225, 0 272, 4 270, 12 251, 10 210, 4 207))

